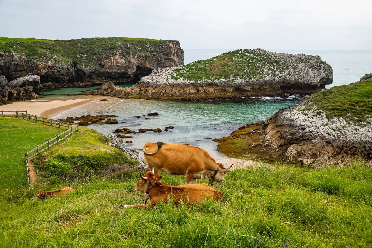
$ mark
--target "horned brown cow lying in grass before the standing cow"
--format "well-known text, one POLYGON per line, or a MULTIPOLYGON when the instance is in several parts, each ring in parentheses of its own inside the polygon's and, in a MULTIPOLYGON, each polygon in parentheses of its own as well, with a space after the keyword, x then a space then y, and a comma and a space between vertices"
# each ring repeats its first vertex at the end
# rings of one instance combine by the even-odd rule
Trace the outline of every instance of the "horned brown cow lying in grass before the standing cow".
MULTIPOLYGON (((153 207, 159 202, 173 200, 174 204, 183 201, 187 205, 200 203, 202 200, 212 198, 219 200, 222 193, 206 184, 187 184, 180 186, 169 186, 159 182, 161 176, 154 176, 153 172, 147 172, 143 177, 140 173, 140 181, 134 185, 135 191, 140 191, 150 196, 150 204, 137 203, 135 205, 121 205, 124 208, 153 207)), ((145 198, 145 197, 144 197, 145 198)), ((145 199, 145 202, 147 198, 145 199)))

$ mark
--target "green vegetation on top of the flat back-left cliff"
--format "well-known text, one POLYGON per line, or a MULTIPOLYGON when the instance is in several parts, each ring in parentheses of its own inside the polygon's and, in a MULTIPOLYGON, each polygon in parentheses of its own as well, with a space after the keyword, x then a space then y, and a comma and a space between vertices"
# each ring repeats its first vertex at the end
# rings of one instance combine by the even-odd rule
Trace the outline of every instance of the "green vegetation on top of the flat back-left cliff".
POLYGON ((53 55, 60 60, 71 60, 81 66, 91 66, 96 63, 97 59, 116 51, 153 57, 155 50, 159 53, 167 52, 163 44, 170 41, 174 42, 173 40, 126 37, 69 40, 0 37, 0 52, 10 53, 13 50, 14 53, 23 53, 29 58, 53 55))

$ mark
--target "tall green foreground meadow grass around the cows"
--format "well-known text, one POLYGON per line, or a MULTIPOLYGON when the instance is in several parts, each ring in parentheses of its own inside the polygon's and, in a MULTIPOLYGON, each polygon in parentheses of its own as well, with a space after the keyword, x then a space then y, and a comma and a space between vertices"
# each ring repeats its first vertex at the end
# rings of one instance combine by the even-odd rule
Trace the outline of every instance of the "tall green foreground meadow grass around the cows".
MULTIPOLYGON (((163 174, 167 184, 183 176, 163 174)), ((294 166, 229 172, 215 188, 219 202, 197 206, 141 202, 133 190, 138 173, 92 178, 76 193, 43 202, 1 199, 1 247, 371 247, 372 173, 349 168, 294 166), (256 238, 259 238, 259 243, 256 238)), ((61 185, 60 187, 62 187, 61 185)))

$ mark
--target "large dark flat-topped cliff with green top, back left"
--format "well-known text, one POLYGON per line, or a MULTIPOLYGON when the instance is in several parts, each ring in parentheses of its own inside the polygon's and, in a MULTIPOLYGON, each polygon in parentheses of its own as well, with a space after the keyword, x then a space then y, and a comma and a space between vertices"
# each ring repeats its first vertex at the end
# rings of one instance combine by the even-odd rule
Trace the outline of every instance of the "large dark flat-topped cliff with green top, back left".
POLYGON ((182 64, 183 50, 174 40, 0 38, 0 75, 8 81, 38 75, 44 88, 136 83, 155 68, 182 64))

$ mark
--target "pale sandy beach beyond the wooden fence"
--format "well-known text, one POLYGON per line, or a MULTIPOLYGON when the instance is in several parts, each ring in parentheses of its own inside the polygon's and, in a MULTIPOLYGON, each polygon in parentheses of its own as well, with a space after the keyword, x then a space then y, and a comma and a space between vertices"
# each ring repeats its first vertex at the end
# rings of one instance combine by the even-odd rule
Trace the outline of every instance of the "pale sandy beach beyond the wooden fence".
MULTIPOLYGON (((28 114, 38 115, 41 117, 51 117, 62 111, 70 108, 74 108, 79 105, 92 102, 97 99, 101 99, 103 96, 87 96, 86 98, 60 100, 60 101, 24 101, 24 102, 13 102, 12 104, 1 105, 0 111, 28 111, 28 114)), ((106 97, 107 98, 107 97, 106 97)))

